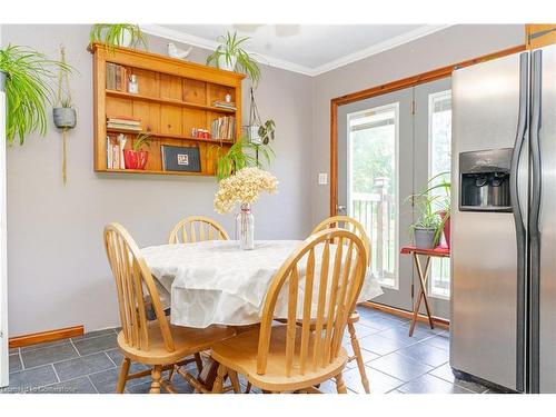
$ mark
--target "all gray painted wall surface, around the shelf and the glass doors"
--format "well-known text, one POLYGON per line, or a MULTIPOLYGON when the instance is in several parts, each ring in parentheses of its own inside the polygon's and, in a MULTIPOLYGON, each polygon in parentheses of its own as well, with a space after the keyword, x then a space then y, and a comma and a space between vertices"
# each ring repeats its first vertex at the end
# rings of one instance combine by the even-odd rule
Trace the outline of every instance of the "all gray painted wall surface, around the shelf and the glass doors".
MULTIPOLYGON (((234 232, 231 215, 212 211, 214 178, 92 171, 88 32, 88 26, 2 26, 3 44, 30 46, 52 58, 63 41, 70 63, 79 70, 71 79, 79 122, 69 139, 68 185, 61 182, 61 140, 56 129, 8 150, 11 336, 80 324, 87 330, 118 324, 101 244, 102 227, 109 221, 123 224, 141 247, 163 242, 178 219, 193 214, 212 216, 234 232)), ((302 238, 328 215, 329 187, 317 186, 317 172, 329 171, 331 98, 523 41, 523 26, 458 26, 312 79, 264 67, 257 97, 262 118, 277 122, 271 171, 280 181, 280 193, 257 202, 257 238, 302 238)), ((150 38, 151 51, 163 52, 165 44, 150 38)), ((190 59, 203 62, 206 53, 196 48, 190 59)))

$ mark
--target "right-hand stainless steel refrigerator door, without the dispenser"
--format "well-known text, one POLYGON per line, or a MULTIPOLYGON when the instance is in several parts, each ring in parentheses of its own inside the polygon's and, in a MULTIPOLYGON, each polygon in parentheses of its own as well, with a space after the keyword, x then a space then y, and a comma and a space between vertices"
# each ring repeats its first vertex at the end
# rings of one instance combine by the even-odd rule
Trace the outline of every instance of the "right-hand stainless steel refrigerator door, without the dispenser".
MULTIPOLYGON (((533 311, 532 329, 538 330, 538 363, 540 393, 556 393, 556 46, 533 52, 534 62, 540 58, 538 145, 540 149, 540 207, 538 230, 540 241, 538 316, 533 311)), ((535 89, 534 89, 535 90, 535 89)), ((532 115, 533 117, 534 115, 532 115)), ((532 120, 532 129, 534 127, 532 120)), ((533 137, 532 131, 532 137, 533 137)), ((532 219, 533 220, 533 219, 532 219)), ((533 254, 532 254, 533 256, 533 254)), ((532 282, 534 277, 532 277, 532 282)), ((536 300, 532 300, 535 306, 536 300)), ((535 342, 533 347, 535 348, 535 342)), ((533 355, 536 353, 533 351, 533 355)), ((535 381, 533 381, 535 385, 535 381)))

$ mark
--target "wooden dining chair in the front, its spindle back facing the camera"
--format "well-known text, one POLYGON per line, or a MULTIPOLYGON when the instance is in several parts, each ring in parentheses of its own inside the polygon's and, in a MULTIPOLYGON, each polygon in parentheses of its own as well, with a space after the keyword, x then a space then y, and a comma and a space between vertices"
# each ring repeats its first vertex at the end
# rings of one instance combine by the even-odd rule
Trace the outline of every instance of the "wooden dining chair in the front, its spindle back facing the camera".
POLYGON ((226 376, 237 386, 238 373, 265 391, 319 393, 315 386, 334 377, 337 391, 347 393, 341 371, 348 354, 341 340, 365 264, 364 244, 350 231, 328 229, 305 240, 272 278, 260 328, 212 346, 211 356, 220 364, 214 393, 222 390, 226 376), (276 310, 279 297, 287 312, 276 310))

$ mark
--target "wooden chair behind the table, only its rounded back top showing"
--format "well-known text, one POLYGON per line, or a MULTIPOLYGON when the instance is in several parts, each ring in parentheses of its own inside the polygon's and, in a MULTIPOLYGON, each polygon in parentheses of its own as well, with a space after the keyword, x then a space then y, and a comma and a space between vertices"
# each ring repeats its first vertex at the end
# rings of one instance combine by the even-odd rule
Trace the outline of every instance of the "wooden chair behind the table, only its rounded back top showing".
POLYGON ((229 240, 230 237, 217 221, 202 216, 180 220, 170 232, 168 244, 189 244, 205 240, 229 240))

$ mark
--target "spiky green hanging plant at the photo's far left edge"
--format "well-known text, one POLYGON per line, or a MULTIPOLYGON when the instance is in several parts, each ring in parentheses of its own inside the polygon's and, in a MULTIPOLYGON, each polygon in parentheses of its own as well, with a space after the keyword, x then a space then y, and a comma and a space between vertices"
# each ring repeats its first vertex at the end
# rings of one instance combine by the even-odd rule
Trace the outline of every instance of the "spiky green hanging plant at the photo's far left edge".
POLYGON ((6 73, 6 136, 9 145, 16 137, 23 145, 32 131, 38 131, 40 136, 47 133, 46 107, 53 102, 51 82, 56 69, 72 70, 67 63, 48 59, 27 47, 9 44, 0 49, 0 71, 6 73))

